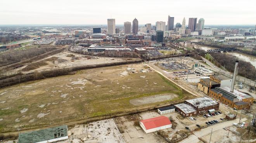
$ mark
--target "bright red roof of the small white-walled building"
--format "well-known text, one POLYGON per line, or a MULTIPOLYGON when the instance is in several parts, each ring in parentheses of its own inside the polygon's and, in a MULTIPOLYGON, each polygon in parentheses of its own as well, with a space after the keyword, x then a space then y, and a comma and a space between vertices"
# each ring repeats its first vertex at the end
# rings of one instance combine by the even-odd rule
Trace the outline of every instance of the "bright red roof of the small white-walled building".
POLYGON ((166 116, 158 116, 155 118, 144 119, 140 122, 145 126, 146 130, 171 124, 170 119, 168 119, 166 116))

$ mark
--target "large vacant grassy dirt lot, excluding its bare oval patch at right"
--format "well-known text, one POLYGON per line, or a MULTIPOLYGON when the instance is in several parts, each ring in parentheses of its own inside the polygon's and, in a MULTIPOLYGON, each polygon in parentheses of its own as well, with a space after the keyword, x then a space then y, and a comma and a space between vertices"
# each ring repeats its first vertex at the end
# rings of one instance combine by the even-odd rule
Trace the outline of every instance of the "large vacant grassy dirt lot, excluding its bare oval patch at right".
MULTIPOLYGON (((0 89, 0 132, 123 113, 191 98, 142 64, 78 71, 74 75, 0 89), (174 93, 174 99, 135 106, 131 99, 174 93)), ((157 100, 156 100, 157 101, 157 100)))

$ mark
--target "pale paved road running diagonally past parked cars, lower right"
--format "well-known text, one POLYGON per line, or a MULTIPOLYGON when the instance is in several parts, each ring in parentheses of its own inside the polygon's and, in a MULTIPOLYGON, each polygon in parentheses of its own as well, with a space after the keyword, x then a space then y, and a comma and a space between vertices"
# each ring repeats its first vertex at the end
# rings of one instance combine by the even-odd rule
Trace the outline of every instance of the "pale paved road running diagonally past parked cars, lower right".
MULTIPOLYGON (((240 122, 244 122, 246 120, 247 120, 246 118, 243 118, 243 119, 241 119, 240 122)), ((224 130, 224 129, 222 129, 223 127, 232 126, 233 123, 238 123, 238 122, 239 122, 239 118, 237 118, 235 120, 223 122, 223 123, 214 124, 213 126, 204 128, 201 131, 193 132, 194 134, 190 135, 188 138, 181 141, 180 143, 197 143, 200 141, 198 138, 202 138, 203 136, 207 136, 207 135, 211 134, 211 128, 213 128, 212 135, 214 135, 215 133, 217 133, 216 131, 224 130)))

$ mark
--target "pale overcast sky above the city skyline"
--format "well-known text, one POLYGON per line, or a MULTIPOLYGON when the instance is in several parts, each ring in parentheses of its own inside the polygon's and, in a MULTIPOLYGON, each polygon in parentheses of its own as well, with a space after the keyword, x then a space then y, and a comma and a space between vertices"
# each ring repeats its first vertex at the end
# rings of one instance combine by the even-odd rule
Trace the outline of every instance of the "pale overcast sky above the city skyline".
POLYGON ((256 24, 256 0, 0 0, 0 24, 116 24, 136 17, 139 24, 165 21, 188 24, 256 24))

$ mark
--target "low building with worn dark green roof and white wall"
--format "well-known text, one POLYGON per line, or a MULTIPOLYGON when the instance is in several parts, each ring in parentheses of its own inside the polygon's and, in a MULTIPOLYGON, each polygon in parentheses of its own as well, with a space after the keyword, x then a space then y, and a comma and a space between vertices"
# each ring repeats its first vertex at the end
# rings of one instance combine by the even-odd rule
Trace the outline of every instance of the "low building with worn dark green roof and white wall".
POLYGON ((52 143, 66 139, 67 125, 19 133, 19 143, 52 143))

